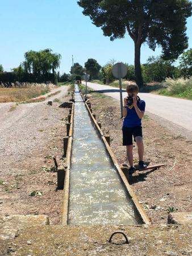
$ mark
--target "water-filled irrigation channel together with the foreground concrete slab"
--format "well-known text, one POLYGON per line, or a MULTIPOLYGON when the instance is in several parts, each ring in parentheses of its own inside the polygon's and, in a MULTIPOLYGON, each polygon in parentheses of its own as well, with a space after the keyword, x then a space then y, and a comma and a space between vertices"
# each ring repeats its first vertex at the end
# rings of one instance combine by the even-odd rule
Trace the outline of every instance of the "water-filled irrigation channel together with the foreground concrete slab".
POLYGON ((69 108, 65 166, 55 163, 57 189, 64 189, 61 225, 40 214, 0 216, 0 255, 191 255, 191 213, 142 225, 148 217, 90 102, 77 86, 73 97, 61 104, 69 108))

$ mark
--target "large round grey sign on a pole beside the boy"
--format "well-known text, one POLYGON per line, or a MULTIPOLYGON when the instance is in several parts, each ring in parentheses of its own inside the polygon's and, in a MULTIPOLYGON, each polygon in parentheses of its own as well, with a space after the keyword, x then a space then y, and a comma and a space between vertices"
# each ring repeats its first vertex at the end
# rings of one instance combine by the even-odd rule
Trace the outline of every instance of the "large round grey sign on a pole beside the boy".
POLYGON ((123 63, 116 63, 112 67, 112 75, 119 79, 119 89, 120 89, 120 113, 123 117, 123 97, 122 97, 122 78, 127 75, 127 67, 123 63))

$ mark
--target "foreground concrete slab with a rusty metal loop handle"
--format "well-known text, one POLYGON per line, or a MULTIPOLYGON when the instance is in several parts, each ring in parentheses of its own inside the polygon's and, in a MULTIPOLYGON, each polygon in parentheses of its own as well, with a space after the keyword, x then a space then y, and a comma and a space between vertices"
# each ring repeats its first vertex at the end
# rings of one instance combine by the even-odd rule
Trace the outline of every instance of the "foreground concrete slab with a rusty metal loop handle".
MULTIPOLYGON (((14 255, 191 255, 186 225, 42 226, 23 229, 11 245, 14 255), (112 243, 108 242, 112 233, 112 243)), ((0 253, 1 254, 1 253, 0 253)))

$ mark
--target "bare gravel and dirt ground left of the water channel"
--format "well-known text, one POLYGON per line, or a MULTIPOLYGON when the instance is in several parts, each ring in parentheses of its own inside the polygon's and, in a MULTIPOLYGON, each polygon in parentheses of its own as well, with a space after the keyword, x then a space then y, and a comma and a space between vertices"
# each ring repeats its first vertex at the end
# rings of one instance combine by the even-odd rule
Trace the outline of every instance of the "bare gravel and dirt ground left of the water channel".
POLYGON ((67 100, 68 86, 48 94, 57 90, 43 102, 0 104, 0 214, 43 213, 59 221, 62 193, 54 192, 56 174, 42 168, 54 166, 52 155, 62 156, 68 110, 58 107, 67 100), (60 102, 49 106, 55 98, 60 102), (11 106, 16 108, 9 112, 11 106), (29 196, 34 190, 43 196, 29 196))

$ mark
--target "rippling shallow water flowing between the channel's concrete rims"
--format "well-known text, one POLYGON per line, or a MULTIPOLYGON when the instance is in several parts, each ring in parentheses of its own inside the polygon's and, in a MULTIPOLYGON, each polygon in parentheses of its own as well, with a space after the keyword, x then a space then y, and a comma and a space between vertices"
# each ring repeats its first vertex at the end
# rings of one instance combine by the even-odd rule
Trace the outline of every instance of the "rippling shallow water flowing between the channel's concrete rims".
POLYGON ((77 85, 75 100, 69 224, 138 224, 132 201, 92 125, 77 85))

